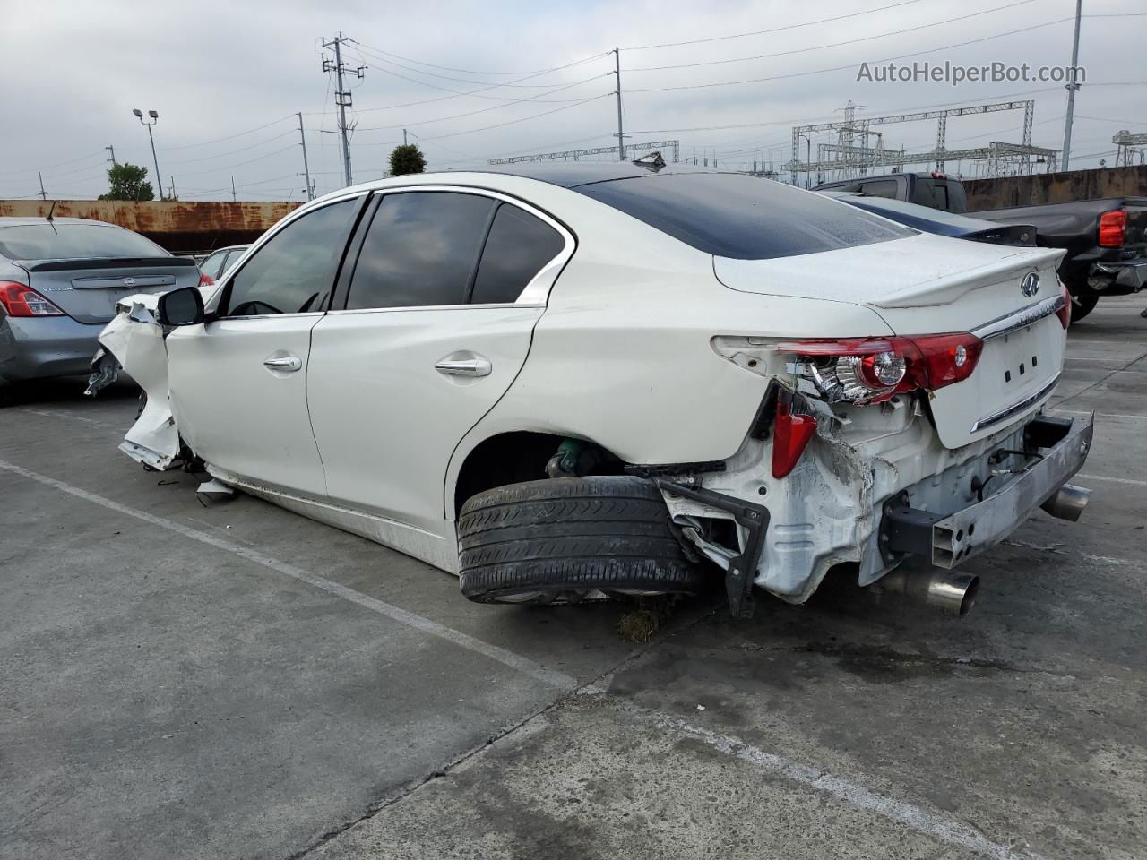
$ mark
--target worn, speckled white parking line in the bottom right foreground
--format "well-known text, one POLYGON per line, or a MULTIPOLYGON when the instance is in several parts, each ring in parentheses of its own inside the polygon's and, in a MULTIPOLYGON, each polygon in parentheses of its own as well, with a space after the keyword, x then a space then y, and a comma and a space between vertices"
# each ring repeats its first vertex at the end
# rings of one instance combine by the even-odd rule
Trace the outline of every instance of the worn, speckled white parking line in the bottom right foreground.
POLYGON ((937 839, 946 842, 949 845, 955 845, 983 857, 992 858, 993 860, 1043 860, 1039 854, 1013 851, 1007 845, 992 842, 975 828, 968 827, 962 822, 935 815, 919 806, 877 793, 872 789, 849 782, 840 776, 833 776, 829 773, 802 765, 782 756, 765 752, 733 735, 720 735, 707 728, 688 724, 677 717, 656 711, 647 711, 627 705, 624 706, 624 710, 631 712, 640 720, 656 725, 662 730, 679 740, 700 741, 718 752, 739 758, 766 773, 807 785, 817 791, 824 791, 857 808, 866 810, 881 818, 904 824, 916 832, 934 836, 937 839))

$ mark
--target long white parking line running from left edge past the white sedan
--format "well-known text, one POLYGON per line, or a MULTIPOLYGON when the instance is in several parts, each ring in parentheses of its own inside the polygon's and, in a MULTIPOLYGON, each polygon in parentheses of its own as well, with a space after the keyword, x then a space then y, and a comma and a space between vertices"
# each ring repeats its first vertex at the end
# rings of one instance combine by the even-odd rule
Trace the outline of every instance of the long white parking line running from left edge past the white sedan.
POLYGON ((31 480, 37 480, 46 486, 55 487, 56 490, 70 493, 78 499, 101 505, 109 510, 115 510, 119 514, 126 514, 127 516, 135 517, 136 519, 142 519, 145 523, 150 523, 151 525, 157 525, 161 529, 166 529, 167 531, 175 532, 177 534, 182 534, 184 537, 197 540, 201 544, 206 544, 216 547, 217 549, 223 549, 227 553, 232 553, 233 555, 255 562, 256 564, 262 564, 264 568, 270 568, 279 573, 283 573, 288 577, 306 583, 307 585, 314 586, 315 588, 320 588, 328 594, 335 595, 336 597, 342 597, 351 603, 369 609, 373 612, 387 616, 399 624, 405 624, 408 627, 414 627, 423 633, 429 633, 432 636, 438 636, 439 639, 453 642, 461 648, 481 654, 490 659, 497 660, 498 663, 529 675, 535 680, 541 681, 543 683, 567 690, 572 690, 577 687, 577 680, 564 672, 555 672, 552 669, 546 669, 541 664, 535 663, 530 658, 523 657, 520 654, 514 654, 505 648, 499 648, 498 646, 490 644, 489 642, 483 642, 482 640, 475 639, 474 636, 462 633, 461 631, 457 631, 453 627, 447 627, 443 624, 438 624, 437 621, 431 621, 429 618, 423 618, 420 615, 415 615, 414 612, 409 612, 399 607, 377 600, 376 597, 370 597, 361 592, 356 592, 353 588, 348 588, 345 585, 315 576, 314 573, 305 571, 302 568, 296 568, 294 564, 288 564, 287 562, 281 562, 278 558, 272 558, 270 555, 264 555, 263 553, 251 549, 250 547, 240 546, 239 544, 234 544, 229 540, 217 538, 213 534, 201 532, 197 529, 181 525, 174 521, 157 517, 154 514, 148 514, 142 510, 136 510, 127 505, 120 505, 117 501, 106 499, 102 495, 96 495, 95 493, 89 493, 86 490, 72 486, 71 484, 65 484, 62 480, 49 478, 47 475, 40 475, 39 472, 30 469, 24 469, 15 463, 0 460, 0 469, 5 469, 15 475, 21 475, 25 478, 30 478, 31 480))

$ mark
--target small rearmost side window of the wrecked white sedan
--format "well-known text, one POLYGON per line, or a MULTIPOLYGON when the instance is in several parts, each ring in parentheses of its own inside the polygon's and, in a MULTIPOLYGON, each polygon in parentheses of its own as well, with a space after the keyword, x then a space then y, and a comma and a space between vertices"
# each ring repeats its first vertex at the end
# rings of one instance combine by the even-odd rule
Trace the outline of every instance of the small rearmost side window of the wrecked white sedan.
POLYGON ((470 302, 489 305, 517 300, 525 286, 564 247, 562 235, 540 218, 502 203, 482 250, 470 302))

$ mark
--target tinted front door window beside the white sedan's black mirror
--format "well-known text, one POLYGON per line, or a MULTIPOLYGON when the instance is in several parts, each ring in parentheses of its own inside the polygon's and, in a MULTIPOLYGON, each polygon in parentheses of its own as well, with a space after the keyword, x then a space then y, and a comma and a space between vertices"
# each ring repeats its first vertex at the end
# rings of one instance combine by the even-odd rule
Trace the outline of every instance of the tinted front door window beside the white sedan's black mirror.
POLYGON ((361 200, 345 200, 295 219, 231 279, 225 316, 321 311, 338 273, 361 200))

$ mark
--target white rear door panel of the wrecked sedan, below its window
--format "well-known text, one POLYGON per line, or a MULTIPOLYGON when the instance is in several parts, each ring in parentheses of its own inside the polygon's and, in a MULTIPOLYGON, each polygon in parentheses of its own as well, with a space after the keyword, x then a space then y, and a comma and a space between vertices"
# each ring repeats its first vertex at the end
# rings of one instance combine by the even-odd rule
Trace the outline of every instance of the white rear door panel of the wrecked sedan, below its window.
MULTIPOLYGON (((323 318, 313 333, 307 388, 331 501, 444 534, 451 454, 517 376, 541 310, 390 308, 323 318), (436 369, 446 359, 485 359, 490 373, 436 369)), ((418 546, 399 542, 412 555, 420 555, 418 546)))

